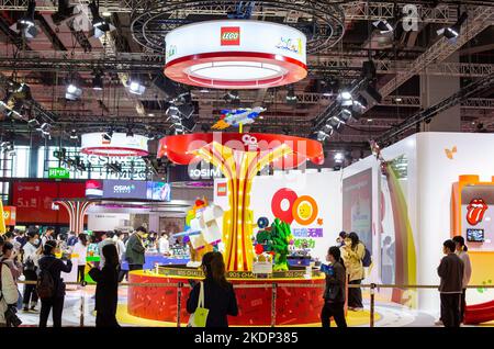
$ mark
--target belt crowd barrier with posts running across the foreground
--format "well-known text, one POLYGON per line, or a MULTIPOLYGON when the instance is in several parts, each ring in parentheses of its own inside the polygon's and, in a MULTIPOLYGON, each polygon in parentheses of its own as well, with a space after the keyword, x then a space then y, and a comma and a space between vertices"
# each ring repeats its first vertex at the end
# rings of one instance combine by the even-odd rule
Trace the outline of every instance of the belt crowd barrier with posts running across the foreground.
MULTIPOLYGON (((36 284, 36 281, 18 281, 20 284, 36 284)), ((67 285, 80 285, 86 286, 86 282, 66 282, 67 285)), ((143 288, 170 288, 176 286, 177 288, 177 327, 181 326, 181 318, 180 318, 180 311, 182 307, 181 304, 181 295, 182 295, 182 289, 183 288, 191 288, 190 284, 186 284, 183 282, 176 282, 176 283, 130 283, 130 282, 121 282, 119 284, 120 286, 143 286, 143 288)), ((283 283, 283 286, 291 286, 291 288, 325 288, 325 285, 318 285, 318 284, 304 284, 304 283, 283 283)), ((277 301, 277 290, 278 290, 278 283, 277 282, 267 282, 267 283, 260 283, 260 284, 236 284, 234 285, 234 289, 271 289, 271 327, 274 327, 276 324, 276 301, 277 301)), ((370 290, 370 327, 375 327, 375 289, 438 289, 439 285, 418 285, 418 284, 378 284, 378 283, 369 283, 369 284, 347 284, 347 290, 350 288, 361 288, 361 289, 369 289, 370 290)), ((467 289, 494 289, 494 285, 469 285, 467 289)), ((347 291, 348 293, 348 291, 347 291)), ((81 304, 80 304, 80 327, 85 327, 85 296, 81 295, 81 304)), ((348 294, 347 297, 348 300, 348 294)))

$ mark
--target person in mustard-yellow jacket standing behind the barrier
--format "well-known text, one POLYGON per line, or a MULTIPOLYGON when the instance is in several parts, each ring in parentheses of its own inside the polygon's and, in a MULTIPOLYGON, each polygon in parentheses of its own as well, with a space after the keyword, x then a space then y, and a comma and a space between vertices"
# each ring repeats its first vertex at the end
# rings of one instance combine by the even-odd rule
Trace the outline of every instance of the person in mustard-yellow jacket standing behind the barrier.
MULTIPOLYGON (((345 261, 349 284, 360 284, 363 280, 362 259, 366 247, 359 240, 357 233, 351 232, 341 247, 341 257, 345 261)), ((350 311, 362 311, 362 290, 360 288, 348 288, 348 308, 350 311)))

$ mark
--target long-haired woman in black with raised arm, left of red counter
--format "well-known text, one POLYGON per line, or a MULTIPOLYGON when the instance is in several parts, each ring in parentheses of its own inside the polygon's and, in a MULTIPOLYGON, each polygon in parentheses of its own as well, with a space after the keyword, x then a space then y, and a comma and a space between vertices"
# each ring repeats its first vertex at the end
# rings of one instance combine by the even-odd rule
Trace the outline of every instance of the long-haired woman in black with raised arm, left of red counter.
POLYGON ((104 267, 92 268, 89 275, 97 282, 96 311, 97 327, 120 327, 116 322, 120 262, 116 246, 105 245, 102 250, 104 267))

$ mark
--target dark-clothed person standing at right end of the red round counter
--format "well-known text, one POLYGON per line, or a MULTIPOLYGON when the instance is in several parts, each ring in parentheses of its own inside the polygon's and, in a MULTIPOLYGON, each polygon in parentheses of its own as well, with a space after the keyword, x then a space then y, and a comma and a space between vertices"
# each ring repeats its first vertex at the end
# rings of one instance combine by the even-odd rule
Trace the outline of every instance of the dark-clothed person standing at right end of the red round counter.
POLYGON ((324 291, 324 306, 321 312, 323 327, 330 327, 330 318, 336 326, 347 327, 345 319, 345 284, 346 270, 341 259, 341 252, 337 246, 329 247, 326 260, 330 262, 329 272, 326 273, 326 290, 324 291))

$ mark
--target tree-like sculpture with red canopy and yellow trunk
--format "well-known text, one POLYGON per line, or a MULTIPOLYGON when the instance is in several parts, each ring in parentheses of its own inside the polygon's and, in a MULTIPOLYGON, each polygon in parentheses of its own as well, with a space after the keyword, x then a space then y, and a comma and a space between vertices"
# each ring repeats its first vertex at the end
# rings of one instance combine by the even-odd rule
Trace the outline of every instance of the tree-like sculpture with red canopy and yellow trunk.
POLYGON ((297 168, 306 160, 322 165, 323 147, 314 139, 259 133, 204 133, 161 138, 158 157, 179 165, 205 160, 227 179, 229 211, 223 215, 225 263, 229 271, 252 267, 252 211, 250 188, 267 165, 277 169, 297 168))

